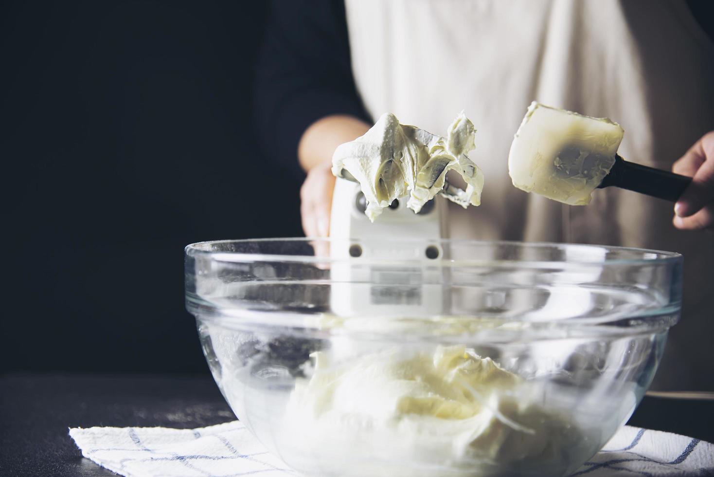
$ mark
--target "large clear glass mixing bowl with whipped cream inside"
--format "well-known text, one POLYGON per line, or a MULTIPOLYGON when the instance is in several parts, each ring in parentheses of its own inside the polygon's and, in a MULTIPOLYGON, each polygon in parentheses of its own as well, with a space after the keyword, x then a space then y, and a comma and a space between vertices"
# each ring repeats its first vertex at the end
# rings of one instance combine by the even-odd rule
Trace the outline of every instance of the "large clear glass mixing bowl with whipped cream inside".
POLYGON ((678 321, 682 257, 479 241, 186 247, 216 383, 307 476, 563 476, 623 426, 678 321))

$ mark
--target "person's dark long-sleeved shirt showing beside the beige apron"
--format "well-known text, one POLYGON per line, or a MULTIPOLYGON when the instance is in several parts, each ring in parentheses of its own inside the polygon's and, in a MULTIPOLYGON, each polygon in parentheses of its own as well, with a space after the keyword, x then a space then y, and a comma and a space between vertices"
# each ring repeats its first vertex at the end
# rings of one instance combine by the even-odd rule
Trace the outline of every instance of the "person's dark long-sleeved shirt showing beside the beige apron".
MULTIPOLYGON (((714 1, 687 0, 714 39, 714 1)), ((261 149, 302 176, 298 143, 331 114, 371 122, 356 90, 343 0, 271 0, 256 64, 253 118, 261 149)))

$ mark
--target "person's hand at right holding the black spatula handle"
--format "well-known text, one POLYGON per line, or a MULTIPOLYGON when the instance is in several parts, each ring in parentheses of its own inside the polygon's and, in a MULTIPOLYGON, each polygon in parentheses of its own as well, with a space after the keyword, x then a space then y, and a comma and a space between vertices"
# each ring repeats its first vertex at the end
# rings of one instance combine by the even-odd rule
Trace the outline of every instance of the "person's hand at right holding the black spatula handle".
POLYGON ((714 131, 702 136, 673 164, 672 171, 692 178, 692 184, 674 206, 675 227, 714 229, 714 131))

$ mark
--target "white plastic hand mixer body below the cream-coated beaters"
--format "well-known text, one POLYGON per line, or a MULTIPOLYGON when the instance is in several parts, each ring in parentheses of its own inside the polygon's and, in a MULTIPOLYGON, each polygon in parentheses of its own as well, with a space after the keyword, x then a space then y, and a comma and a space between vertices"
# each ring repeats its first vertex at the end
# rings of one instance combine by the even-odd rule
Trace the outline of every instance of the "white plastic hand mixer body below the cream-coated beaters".
MULTIPOLYGON (((383 313, 383 306, 386 304, 398 304, 401 313, 405 315, 416 312, 441 313, 442 293, 438 287, 420 285, 417 290, 412 287, 380 286, 379 284, 389 282, 386 272, 375 266, 361 267, 360 263, 371 258, 396 261, 442 258, 444 251, 438 239, 443 238, 446 231, 443 220, 446 216, 444 201, 435 198, 429 201, 419 214, 415 214, 407 209, 406 197, 396 199, 375 222, 367 218, 365 209, 366 199, 359 184, 338 178, 332 199, 330 236, 333 239, 346 240, 333 242, 330 254, 334 258, 351 256, 353 260, 351 263, 342 262, 332 266, 333 311, 346 316, 356 311, 366 316, 375 316, 383 313), (407 240, 396 246, 393 240, 396 237, 404 237, 407 240), (410 243, 409 237, 427 241, 433 239, 434 242, 425 247, 423 240, 410 243), (356 281, 377 284, 353 286, 356 281)), ((415 271, 411 269, 408 273, 415 271)), ((417 283, 423 283, 425 277, 415 278, 417 283)))

